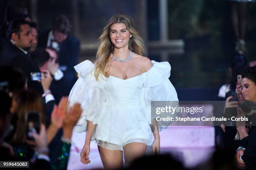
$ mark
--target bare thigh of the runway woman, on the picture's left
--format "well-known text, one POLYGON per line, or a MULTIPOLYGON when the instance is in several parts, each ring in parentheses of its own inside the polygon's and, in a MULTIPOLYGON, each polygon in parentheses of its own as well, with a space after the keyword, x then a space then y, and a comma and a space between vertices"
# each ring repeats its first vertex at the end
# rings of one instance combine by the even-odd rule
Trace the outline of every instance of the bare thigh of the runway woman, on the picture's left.
POLYGON ((121 150, 110 150, 99 145, 98 149, 104 169, 123 168, 123 152, 121 150))

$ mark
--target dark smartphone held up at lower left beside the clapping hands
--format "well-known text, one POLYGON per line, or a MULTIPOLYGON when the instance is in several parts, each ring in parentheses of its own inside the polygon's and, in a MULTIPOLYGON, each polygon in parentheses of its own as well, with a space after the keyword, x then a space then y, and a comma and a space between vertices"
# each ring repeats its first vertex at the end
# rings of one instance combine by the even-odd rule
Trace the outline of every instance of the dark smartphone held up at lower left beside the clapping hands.
POLYGON ((26 137, 27 140, 34 140, 32 133, 40 132, 41 125, 41 113, 40 112, 26 112, 25 113, 25 125, 26 125, 26 137))

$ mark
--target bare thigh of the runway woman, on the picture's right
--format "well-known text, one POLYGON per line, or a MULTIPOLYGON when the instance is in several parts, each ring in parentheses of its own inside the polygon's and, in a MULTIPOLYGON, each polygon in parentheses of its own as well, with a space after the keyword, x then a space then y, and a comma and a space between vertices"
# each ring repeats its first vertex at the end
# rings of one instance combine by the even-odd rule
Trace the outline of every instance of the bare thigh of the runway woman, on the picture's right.
POLYGON ((146 155, 147 146, 144 143, 128 143, 123 147, 125 156, 125 166, 129 165, 134 159, 146 155))

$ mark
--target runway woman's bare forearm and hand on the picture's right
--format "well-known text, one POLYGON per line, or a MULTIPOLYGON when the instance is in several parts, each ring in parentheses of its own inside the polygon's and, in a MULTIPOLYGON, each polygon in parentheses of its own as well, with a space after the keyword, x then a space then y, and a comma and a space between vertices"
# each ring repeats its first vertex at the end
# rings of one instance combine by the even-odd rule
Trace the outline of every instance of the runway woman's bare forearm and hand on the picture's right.
POLYGON ((155 138, 152 144, 152 153, 153 155, 156 155, 160 153, 160 135, 156 119, 153 120, 153 123, 150 125, 150 128, 155 138))

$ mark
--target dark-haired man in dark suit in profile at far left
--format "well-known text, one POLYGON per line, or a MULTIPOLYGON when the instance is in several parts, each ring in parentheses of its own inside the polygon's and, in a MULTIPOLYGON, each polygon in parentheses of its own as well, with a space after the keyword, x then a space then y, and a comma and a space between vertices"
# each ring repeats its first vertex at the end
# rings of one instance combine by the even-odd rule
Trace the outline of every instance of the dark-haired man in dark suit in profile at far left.
POLYGON ((28 88, 43 94, 44 91, 41 83, 31 80, 31 72, 40 72, 40 70, 28 53, 33 39, 29 24, 25 20, 13 21, 9 36, 10 41, 3 47, 0 55, 0 65, 10 65, 23 70, 28 78, 28 88))

